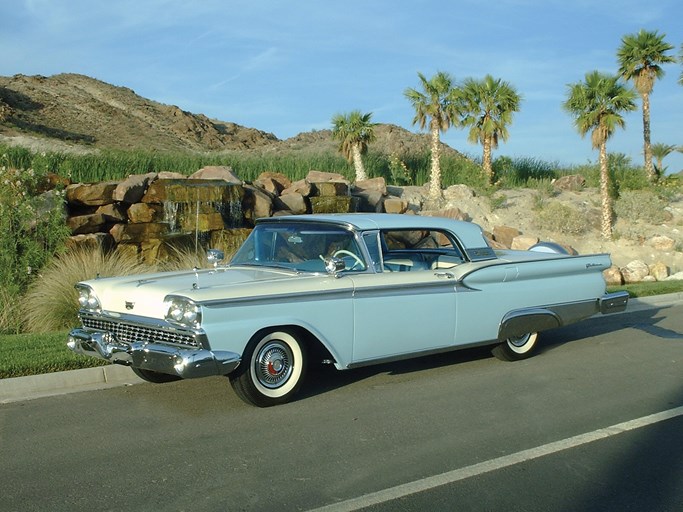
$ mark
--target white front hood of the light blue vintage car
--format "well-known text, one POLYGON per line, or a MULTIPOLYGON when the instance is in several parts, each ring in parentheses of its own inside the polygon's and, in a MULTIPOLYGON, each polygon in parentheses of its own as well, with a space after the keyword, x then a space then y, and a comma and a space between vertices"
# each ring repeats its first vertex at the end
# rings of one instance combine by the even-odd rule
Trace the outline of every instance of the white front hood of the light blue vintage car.
POLYGON ((296 293, 320 287, 327 274, 302 274, 287 269, 231 267, 161 272, 84 281, 106 312, 164 318, 164 299, 179 295, 198 303, 296 293), (316 284, 318 283, 318 284, 316 284))

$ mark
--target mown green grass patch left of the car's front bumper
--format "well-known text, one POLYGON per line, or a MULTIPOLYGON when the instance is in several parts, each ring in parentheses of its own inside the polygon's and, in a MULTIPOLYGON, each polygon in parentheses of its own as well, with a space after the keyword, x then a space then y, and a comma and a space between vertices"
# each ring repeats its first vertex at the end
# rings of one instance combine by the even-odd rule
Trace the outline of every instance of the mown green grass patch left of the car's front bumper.
POLYGON ((66 331, 0 336, 0 379, 92 368, 108 364, 66 347, 66 331))

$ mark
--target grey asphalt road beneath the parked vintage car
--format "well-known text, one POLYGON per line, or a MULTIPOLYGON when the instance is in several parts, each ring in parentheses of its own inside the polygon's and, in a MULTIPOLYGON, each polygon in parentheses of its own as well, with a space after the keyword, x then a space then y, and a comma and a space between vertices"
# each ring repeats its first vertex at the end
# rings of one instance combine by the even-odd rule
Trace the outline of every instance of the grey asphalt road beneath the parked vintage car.
POLYGON ((683 306, 312 372, 257 409, 226 379, 0 405, 0 511, 683 510, 683 306))

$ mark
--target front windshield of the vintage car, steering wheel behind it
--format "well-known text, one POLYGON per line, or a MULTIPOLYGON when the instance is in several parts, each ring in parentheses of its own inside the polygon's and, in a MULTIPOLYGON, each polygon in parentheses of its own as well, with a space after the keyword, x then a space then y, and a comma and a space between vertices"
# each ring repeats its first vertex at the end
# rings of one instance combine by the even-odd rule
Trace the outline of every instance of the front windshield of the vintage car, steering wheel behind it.
POLYGON ((326 258, 340 258, 346 270, 367 268, 351 231, 303 223, 259 224, 230 261, 231 265, 284 267, 325 272, 326 258))

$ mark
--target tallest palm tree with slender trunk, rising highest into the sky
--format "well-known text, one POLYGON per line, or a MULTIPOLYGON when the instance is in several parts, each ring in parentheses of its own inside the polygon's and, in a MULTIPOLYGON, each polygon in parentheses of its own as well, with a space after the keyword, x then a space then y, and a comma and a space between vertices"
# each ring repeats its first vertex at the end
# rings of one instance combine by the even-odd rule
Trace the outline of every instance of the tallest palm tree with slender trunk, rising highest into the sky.
POLYGON ((643 101, 643 154, 645 155, 645 172, 651 181, 658 178, 652 164, 652 148, 650 146, 650 93, 658 78, 664 76, 662 64, 676 62, 676 58, 667 55, 674 49, 664 41, 664 34, 640 30, 621 38, 621 46, 617 51, 619 75, 632 80, 643 101))

